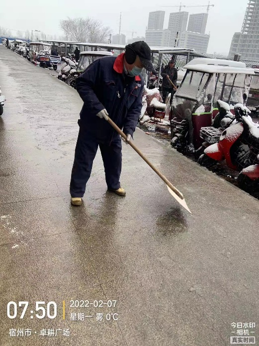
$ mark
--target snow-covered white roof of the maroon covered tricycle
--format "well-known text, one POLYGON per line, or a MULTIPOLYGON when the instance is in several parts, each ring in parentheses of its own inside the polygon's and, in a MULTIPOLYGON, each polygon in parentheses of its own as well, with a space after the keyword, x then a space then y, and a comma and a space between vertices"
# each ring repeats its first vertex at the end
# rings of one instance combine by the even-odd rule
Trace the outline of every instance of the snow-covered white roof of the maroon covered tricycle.
MULTIPOLYGON (((188 64, 187 64, 188 65, 188 64)), ((255 75, 254 69, 246 69, 239 67, 230 66, 215 66, 215 65, 185 65, 184 68, 190 71, 199 71, 205 73, 232 73, 232 74, 242 74, 242 75, 255 75)))

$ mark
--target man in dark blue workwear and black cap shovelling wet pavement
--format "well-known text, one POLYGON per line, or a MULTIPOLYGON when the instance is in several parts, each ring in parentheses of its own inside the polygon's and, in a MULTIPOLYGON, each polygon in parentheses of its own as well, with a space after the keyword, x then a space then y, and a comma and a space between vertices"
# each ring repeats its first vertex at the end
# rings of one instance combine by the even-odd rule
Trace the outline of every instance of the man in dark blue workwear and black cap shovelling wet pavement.
POLYGON ((151 50, 144 41, 134 42, 125 53, 95 60, 77 79, 77 90, 84 101, 80 113, 79 135, 71 174, 73 205, 81 205, 98 147, 101 151, 108 190, 125 196, 120 186, 121 139, 106 121, 108 116, 123 129, 129 142, 142 108, 143 68, 155 72, 151 50))

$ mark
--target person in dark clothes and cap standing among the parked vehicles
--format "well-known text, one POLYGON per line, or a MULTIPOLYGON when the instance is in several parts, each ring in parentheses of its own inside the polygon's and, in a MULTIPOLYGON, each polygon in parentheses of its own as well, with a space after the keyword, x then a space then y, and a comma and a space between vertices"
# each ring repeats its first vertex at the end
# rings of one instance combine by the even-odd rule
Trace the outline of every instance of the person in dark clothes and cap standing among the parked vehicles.
POLYGON ((166 66, 161 73, 161 76, 163 77, 162 82, 162 97, 163 102, 166 103, 166 98, 169 93, 171 93, 171 99, 170 104, 172 103, 173 94, 176 91, 176 88, 173 87, 172 83, 169 81, 169 79, 173 82, 174 86, 176 87, 177 84, 177 70, 174 67, 174 61, 170 60, 169 65, 166 66))

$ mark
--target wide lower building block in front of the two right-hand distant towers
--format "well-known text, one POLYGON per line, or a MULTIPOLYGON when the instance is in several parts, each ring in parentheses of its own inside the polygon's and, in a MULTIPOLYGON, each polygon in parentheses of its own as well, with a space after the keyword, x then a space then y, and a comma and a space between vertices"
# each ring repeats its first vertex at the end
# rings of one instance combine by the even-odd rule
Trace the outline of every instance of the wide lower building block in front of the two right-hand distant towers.
POLYGON ((178 47, 194 49, 200 53, 207 53, 209 44, 209 35, 200 34, 198 32, 182 31, 180 33, 178 47))

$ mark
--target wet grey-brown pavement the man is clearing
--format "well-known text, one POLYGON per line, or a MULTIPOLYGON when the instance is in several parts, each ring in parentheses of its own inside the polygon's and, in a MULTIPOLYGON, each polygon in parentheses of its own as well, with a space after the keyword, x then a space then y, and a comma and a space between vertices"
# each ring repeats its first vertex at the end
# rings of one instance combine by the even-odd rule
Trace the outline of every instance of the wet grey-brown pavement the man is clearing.
POLYGON ((259 338, 257 199, 137 129, 192 215, 125 145, 126 197, 106 191, 98 152, 73 207, 77 91, 3 46, 0 86, 0 346, 227 346, 233 322, 259 338), (10 301, 29 302, 23 318, 10 301), (42 301, 56 318, 36 317, 42 301))

